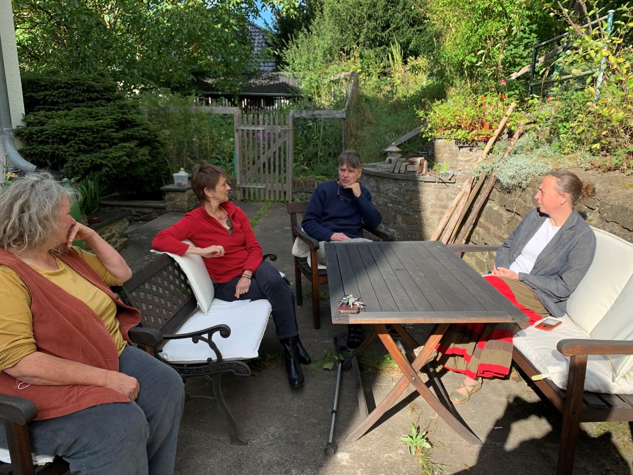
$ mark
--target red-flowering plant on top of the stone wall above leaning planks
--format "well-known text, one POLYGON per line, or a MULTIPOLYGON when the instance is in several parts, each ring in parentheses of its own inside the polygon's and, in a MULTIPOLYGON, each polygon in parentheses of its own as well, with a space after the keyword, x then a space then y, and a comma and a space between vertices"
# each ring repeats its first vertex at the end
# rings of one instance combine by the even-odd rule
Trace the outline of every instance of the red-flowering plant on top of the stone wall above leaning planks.
POLYGON ((475 95, 451 89, 446 99, 418 110, 418 115, 428 124, 423 131, 428 139, 444 137, 475 143, 489 139, 508 105, 510 100, 505 92, 475 95))

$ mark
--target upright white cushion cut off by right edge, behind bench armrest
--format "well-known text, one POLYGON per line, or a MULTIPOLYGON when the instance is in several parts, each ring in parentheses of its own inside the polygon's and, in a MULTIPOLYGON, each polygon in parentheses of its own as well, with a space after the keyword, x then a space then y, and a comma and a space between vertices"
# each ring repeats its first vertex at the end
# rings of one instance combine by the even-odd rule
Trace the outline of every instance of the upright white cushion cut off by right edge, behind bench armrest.
MULTIPOLYGON (((606 315, 591 332, 591 338, 633 341, 633 277, 606 315)), ((633 376, 633 355, 607 355, 613 367, 613 381, 633 376)))

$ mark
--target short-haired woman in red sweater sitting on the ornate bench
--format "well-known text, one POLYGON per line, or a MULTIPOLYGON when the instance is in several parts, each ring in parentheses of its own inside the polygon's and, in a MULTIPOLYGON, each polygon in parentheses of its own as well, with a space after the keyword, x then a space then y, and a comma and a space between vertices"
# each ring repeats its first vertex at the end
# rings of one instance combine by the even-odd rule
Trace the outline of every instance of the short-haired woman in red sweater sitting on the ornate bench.
POLYGON ((201 255, 220 300, 270 301, 288 382, 299 388, 303 385, 299 363, 311 360, 299 339, 294 292, 273 265, 261 261, 261 246, 246 214, 229 201, 231 187, 224 170, 206 163, 196 165, 191 189, 200 206, 156 234, 152 247, 180 256, 201 255), (194 246, 182 243, 183 239, 194 246))

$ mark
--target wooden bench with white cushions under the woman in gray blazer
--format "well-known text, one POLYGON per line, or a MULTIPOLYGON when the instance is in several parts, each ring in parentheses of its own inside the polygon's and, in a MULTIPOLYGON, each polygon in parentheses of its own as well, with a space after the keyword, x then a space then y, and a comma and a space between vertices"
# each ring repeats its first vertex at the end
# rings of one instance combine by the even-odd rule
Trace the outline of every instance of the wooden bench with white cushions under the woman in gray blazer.
MULTIPOLYGON (((593 228, 596 255, 552 331, 513 339, 515 364, 563 414, 558 474, 573 471, 580 422, 633 421, 633 244, 593 228)), ((499 246, 453 244, 456 252, 499 246)))

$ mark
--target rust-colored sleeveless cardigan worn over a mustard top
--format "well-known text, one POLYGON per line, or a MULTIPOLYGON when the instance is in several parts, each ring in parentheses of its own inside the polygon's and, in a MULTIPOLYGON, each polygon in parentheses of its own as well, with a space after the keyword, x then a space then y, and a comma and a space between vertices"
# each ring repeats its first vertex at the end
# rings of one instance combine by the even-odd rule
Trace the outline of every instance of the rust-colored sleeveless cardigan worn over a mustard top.
MULTIPOLYGON (((125 305, 92 267, 73 251, 67 251, 58 257, 115 301, 120 331, 123 338, 130 343, 127 332, 141 320, 139 310, 125 305)), ((118 371, 114 340, 103 320, 92 308, 1 248, 0 264, 15 270, 31 294, 33 336, 38 352, 118 371)), ((22 384, 21 387, 27 387, 20 390, 18 384, 18 379, 0 371, 0 392, 33 402, 37 408, 38 420, 60 417, 103 403, 130 401, 127 396, 101 386, 22 384)))

